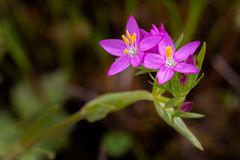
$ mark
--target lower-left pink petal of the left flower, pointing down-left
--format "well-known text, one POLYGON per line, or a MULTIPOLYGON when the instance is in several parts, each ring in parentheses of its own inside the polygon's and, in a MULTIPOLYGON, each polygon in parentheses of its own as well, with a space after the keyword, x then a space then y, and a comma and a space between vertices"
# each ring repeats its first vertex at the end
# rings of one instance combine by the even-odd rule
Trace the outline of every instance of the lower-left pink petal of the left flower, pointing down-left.
POLYGON ((129 65, 130 65, 130 57, 128 55, 119 57, 111 65, 110 69, 108 70, 108 75, 112 76, 114 74, 117 74, 125 70, 129 65))

